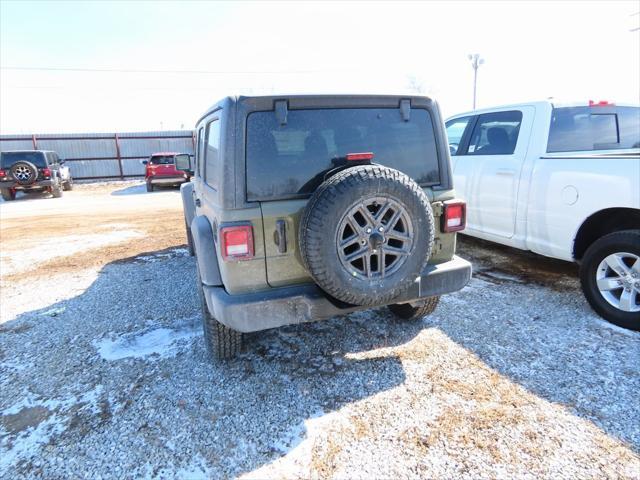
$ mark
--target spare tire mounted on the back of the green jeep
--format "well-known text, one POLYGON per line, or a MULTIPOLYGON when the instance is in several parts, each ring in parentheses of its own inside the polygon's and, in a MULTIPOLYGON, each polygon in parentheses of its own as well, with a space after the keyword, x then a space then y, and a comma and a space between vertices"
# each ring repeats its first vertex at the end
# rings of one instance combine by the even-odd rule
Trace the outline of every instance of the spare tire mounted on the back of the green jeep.
POLYGON ((431 256, 433 237, 422 188, 379 165, 342 170, 320 185, 298 235, 314 281, 354 305, 388 303, 407 291, 431 256))

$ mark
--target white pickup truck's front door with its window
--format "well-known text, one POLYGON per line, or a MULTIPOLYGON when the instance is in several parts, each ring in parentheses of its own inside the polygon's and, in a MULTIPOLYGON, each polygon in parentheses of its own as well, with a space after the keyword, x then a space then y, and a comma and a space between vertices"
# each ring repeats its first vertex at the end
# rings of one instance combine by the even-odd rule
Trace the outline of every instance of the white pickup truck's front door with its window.
POLYGON ((467 202, 470 234, 514 236, 520 173, 534 113, 534 107, 525 106, 483 113, 469 121, 452 158, 456 191, 467 202))

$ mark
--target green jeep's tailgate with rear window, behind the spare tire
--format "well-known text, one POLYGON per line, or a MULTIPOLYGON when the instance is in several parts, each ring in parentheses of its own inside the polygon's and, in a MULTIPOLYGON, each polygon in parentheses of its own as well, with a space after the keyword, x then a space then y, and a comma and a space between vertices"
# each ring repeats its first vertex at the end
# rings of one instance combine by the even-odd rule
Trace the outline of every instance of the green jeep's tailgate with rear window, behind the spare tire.
MULTIPOLYGON (((247 118, 247 199, 262 209, 267 281, 310 281, 298 252, 298 225, 308 199, 347 153, 373 152, 424 187, 440 183, 434 126, 427 109, 407 118, 396 108, 274 111, 247 118)), ((343 160, 342 160, 343 161, 343 160)))

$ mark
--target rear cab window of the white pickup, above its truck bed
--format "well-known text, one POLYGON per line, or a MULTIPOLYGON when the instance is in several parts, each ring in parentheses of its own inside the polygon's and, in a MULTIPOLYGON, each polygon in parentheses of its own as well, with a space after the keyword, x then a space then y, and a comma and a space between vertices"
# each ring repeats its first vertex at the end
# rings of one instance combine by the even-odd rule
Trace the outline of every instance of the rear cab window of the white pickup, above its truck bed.
POLYGON ((640 148, 640 108, 554 108, 547 152, 640 148))

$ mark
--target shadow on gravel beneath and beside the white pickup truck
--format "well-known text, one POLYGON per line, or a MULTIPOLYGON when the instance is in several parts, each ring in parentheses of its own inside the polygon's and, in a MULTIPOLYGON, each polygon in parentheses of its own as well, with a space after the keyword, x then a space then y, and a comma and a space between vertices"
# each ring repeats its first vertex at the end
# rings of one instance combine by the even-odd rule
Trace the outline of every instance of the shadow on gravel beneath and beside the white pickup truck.
POLYGON ((482 314, 434 326, 500 374, 640 452, 640 402, 628 401, 640 391, 640 332, 589 308, 574 264, 469 237, 460 247, 474 262, 474 281, 493 292, 482 314))

